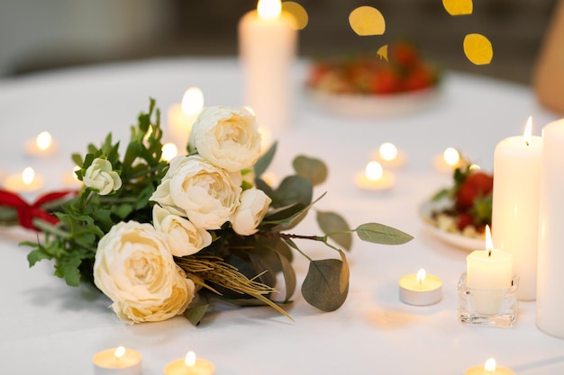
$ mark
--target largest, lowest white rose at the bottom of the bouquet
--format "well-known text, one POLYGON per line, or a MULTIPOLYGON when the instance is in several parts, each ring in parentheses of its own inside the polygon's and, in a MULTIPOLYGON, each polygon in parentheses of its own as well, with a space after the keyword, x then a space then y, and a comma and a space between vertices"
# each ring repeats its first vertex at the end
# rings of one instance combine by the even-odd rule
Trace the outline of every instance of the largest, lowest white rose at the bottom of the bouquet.
POLYGON ((128 323, 177 316, 194 297, 194 283, 174 262, 164 236, 136 221, 116 224, 100 239, 94 282, 128 323))

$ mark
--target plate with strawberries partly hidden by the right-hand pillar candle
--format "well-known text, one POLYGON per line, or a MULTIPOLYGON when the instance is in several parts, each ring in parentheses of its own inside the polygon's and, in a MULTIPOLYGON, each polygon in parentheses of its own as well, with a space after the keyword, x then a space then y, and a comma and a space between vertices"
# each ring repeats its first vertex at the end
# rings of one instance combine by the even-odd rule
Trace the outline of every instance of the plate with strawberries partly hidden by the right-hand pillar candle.
POLYGON ((423 202, 419 214, 425 228, 453 246, 485 248, 484 232, 492 222, 494 176, 471 166, 454 171, 453 186, 423 202))

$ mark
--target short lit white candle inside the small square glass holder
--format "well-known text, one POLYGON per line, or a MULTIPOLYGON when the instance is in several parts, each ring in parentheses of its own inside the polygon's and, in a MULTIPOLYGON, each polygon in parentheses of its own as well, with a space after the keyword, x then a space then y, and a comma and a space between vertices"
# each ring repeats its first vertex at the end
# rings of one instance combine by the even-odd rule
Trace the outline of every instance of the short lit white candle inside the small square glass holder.
MULTIPOLYGON (((474 290, 506 290, 513 280, 513 256, 492 246, 489 227, 486 227, 486 250, 476 250, 466 257, 466 285, 474 290)), ((503 293, 474 296, 478 314, 494 315, 499 311, 503 293)))

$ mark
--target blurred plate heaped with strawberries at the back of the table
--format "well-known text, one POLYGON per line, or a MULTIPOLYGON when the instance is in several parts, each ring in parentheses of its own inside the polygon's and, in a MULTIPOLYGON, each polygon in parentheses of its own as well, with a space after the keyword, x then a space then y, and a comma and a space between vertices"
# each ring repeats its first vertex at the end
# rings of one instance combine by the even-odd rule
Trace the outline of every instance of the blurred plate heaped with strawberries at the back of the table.
POLYGON ((318 59, 305 88, 314 103, 348 115, 411 112, 439 98, 440 70, 413 43, 398 40, 378 54, 318 59))

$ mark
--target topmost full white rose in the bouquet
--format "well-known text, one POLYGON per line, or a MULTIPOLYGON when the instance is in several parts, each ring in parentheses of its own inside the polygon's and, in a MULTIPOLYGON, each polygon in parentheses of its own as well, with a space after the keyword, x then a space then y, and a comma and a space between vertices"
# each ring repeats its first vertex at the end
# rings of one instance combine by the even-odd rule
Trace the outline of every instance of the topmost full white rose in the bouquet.
POLYGON ((213 165, 241 171, 259 159, 259 125, 243 108, 207 107, 194 123, 189 143, 213 165))

